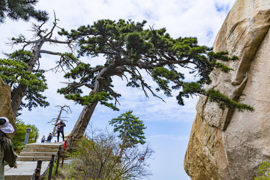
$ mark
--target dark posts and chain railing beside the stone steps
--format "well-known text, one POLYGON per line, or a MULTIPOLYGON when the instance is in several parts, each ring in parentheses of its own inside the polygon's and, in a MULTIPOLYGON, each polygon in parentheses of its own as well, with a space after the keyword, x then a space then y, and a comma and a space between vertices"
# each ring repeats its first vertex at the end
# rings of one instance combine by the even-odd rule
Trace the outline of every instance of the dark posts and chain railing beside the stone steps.
POLYGON ((47 165, 47 168, 44 170, 44 172, 40 175, 40 170, 41 170, 41 164, 42 164, 42 160, 37 160, 37 164, 36 164, 36 168, 34 170, 34 173, 31 177, 30 180, 39 180, 45 177, 47 171, 49 170, 48 173, 48 180, 51 179, 51 174, 52 174, 52 168, 53 168, 53 163, 55 162, 55 160, 57 159, 57 163, 56 163, 56 169, 55 169, 55 174, 57 174, 58 172, 58 166, 59 166, 59 161, 60 161, 60 154, 62 153, 62 163, 61 166, 63 164, 63 159, 64 159, 64 146, 61 145, 58 149, 58 152, 56 154, 56 156, 54 154, 51 155, 51 159, 49 160, 49 163, 47 165))

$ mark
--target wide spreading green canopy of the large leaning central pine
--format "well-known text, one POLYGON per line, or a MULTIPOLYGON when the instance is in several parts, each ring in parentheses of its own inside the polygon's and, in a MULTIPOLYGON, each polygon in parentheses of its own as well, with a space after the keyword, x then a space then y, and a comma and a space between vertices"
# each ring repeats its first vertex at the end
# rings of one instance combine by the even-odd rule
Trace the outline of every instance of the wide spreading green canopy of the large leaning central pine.
MULTIPOLYGON (((59 92, 81 93, 81 86, 93 89, 95 84, 101 84, 103 91, 109 93, 116 104, 116 98, 120 94, 112 90, 111 76, 123 76, 124 73, 128 73, 130 78, 127 86, 141 87, 146 96, 148 96, 146 90, 149 90, 153 96, 157 96, 151 86, 144 81, 139 70, 143 69, 156 82, 156 91, 162 90, 166 96, 171 96, 172 89, 178 90, 176 99, 180 105, 184 105, 183 98, 211 94, 209 99, 217 102, 222 108, 252 110, 248 105, 232 103, 223 95, 218 98, 221 93, 206 92, 202 88, 203 84, 211 83, 209 74, 214 68, 225 73, 233 70, 225 63, 237 60, 237 56, 229 57, 228 52, 225 51, 213 52, 212 47, 198 45, 196 37, 172 38, 166 33, 165 28, 143 28, 145 23, 145 20, 134 22, 119 19, 116 22, 101 19, 92 25, 82 25, 70 32, 61 29, 58 32, 60 35, 78 41, 79 55, 103 55, 106 63, 96 67, 91 67, 90 64, 79 64, 65 76, 74 81, 68 83, 68 86, 59 92), (189 73, 200 79, 196 82, 185 82, 179 66, 191 69, 189 73)), ((124 75, 127 78, 126 74, 124 75)))

